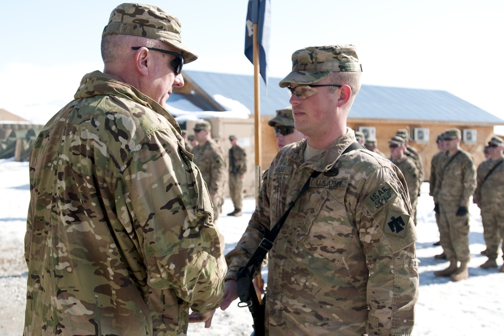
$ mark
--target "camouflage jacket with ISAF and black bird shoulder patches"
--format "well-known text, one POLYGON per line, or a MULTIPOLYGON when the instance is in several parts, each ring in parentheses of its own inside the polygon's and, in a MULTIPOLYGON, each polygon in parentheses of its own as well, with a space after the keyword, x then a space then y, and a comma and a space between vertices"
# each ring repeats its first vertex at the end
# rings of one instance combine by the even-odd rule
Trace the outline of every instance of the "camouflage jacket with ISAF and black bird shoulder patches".
POLYGON ((416 231, 406 182, 366 150, 342 155, 354 132, 303 162, 306 141, 280 150, 235 249, 234 279, 313 170, 322 173, 285 221, 269 254, 270 335, 410 335, 418 298, 416 231))

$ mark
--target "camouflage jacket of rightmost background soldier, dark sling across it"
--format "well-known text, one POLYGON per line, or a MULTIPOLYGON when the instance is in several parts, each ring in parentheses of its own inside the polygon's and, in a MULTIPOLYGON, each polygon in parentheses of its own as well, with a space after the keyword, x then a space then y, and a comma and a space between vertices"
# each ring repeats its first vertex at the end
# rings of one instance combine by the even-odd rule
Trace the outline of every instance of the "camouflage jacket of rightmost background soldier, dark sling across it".
POLYGON ((504 209, 504 188, 502 188, 504 185, 504 163, 502 160, 504 160, 502 157, 497 160, 488 159, 478 167, 474 201, 482 209, 490 211, 504 209), (490 173, 493 167, 495 169, 490 173))

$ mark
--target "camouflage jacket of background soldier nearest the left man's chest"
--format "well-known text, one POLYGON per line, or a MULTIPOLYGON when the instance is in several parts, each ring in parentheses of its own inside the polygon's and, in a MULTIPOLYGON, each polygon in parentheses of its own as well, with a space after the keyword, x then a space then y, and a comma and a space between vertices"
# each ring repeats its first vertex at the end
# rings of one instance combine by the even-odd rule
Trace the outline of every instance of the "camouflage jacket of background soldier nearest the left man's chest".
POLYGON ((215 141, 209 139, 203 145, 193 148, 194 162, 207 183, 208 191, 223 197, 226 178, 226 161, 222 150, 215 141))

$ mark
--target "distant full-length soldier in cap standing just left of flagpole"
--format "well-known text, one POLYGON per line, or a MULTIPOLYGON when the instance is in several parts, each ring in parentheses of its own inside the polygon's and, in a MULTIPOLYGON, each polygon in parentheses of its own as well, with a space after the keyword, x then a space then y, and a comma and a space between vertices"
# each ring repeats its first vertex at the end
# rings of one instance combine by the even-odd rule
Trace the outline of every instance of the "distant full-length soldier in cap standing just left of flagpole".
POLYGON ((229 136, 229 195, 233 201, 234 210, 228 216, 241 216, 243 206, 243 178, 247 171, 247 154, 238 146, 238 138, 229 136))

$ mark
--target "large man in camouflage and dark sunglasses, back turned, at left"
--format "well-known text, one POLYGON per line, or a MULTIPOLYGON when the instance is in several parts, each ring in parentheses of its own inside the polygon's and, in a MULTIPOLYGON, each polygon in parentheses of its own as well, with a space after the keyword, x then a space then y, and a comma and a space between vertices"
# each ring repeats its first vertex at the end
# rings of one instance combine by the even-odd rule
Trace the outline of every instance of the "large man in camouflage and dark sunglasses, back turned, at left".
POLYGON ((223 240, 164 108, 183 86, 182 62, 197 58, 180 41, 170 14, 118 6, 102 35, 104 72, 85 75, 40 132, 25 335, 182 335, 190 308, 208 316, 219 305, 223 240))

